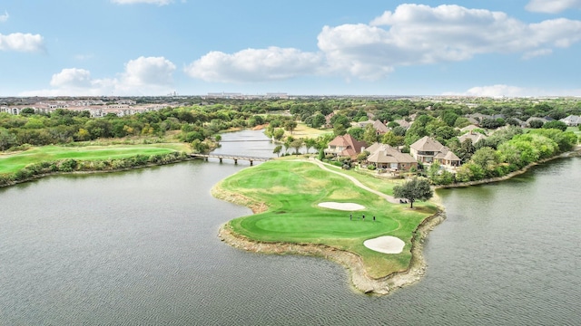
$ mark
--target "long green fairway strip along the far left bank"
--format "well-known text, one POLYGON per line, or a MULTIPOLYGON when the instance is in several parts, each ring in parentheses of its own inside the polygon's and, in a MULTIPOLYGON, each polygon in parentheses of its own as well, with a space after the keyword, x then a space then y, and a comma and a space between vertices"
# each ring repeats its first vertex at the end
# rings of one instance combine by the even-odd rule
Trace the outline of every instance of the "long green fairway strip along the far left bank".
POLYGON ((31 163, 54 161, 65 158, 79 160, 114 159, 129 158, 138 154, 165 154, 172 151, 175 151, 175 149, 164 148, 161 144, 86 147, 44 146, 17 152, 15 154, 0 155, 0 173, 14 173, 31 163))

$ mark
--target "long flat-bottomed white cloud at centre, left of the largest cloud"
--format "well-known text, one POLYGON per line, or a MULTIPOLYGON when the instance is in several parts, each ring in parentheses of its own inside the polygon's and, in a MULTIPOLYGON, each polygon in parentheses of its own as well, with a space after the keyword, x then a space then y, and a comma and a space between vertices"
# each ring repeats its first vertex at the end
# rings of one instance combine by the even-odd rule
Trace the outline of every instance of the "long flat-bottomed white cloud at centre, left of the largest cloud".
POLYGON ((207 53, 184 71, 207 82, 265 82, 316 73, 322 63, 319 53, 269 47, 233 54, 207 53))

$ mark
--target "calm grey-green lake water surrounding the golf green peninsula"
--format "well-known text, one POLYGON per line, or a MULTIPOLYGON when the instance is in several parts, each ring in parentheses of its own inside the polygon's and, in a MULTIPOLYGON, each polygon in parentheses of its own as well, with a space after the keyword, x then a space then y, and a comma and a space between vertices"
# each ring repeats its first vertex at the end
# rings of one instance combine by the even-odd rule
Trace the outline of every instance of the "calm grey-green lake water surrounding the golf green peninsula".
POLYGON ((353 292, 322 259, 222 244, 218 227, 250 210, 210 189, 247 167, 192 161, 0 189, 0 324, 581 324, 581 158, 438 191, 448 219, 428 237, 428 273, 386 297, 353 292))

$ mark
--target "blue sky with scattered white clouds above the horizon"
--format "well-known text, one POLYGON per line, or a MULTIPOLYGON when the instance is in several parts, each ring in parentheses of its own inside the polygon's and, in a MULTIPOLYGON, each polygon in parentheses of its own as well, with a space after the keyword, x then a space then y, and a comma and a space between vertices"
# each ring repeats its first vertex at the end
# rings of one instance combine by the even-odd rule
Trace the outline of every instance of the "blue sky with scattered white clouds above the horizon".
POLYGON ((0 96, 581 96, 581 0, 3 0, 0 96))

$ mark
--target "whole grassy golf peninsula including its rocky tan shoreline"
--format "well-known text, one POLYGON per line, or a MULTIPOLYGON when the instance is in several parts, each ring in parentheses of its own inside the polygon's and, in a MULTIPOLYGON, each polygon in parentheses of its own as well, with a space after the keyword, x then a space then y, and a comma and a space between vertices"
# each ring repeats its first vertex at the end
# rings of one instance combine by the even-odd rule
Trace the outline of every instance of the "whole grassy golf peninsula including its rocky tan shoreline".
MULTIPOLYGON (((364 185, 374 182, 358 179, 364 185)), ((359 291, 381 294, 418 279, 423 269, 419 226, 438 216, 431 203, 415 209, 389 203, 309 161, 275 160, 243 169, 222 180, 212 194, 255 213, 222 226, 221 237, 229 244, 264 253, 324 256, 348 267, 359 291), (364 245, 382 236, 403 241, 401 252, 385 254, 364 245)))

